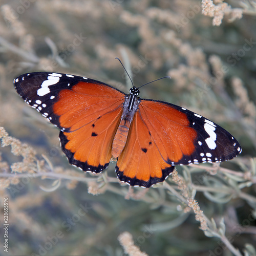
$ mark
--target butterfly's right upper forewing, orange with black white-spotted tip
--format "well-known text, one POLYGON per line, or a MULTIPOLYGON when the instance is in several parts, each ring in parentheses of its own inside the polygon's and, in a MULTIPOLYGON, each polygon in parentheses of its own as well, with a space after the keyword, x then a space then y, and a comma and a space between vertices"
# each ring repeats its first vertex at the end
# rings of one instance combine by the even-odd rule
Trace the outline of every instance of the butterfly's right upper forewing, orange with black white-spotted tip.
POLYGON ((142 100, 139 112, 168 164, 221 162, 241 153, 230 133, 181 106, 142 100))

